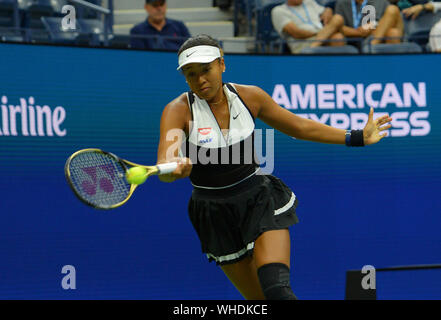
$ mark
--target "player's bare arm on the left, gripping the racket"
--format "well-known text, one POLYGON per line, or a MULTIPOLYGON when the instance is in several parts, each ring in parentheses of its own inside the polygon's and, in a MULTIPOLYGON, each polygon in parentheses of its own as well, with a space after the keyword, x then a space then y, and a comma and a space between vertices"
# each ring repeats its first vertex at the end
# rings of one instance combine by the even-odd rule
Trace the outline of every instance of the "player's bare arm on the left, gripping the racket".
POLYGON ((186 100, 186 95, 183 94, 170 102, 162 112, 157 164, 178 162, 175 171, 158 176, 163 182, 173 182, 176 179, 188 177, 191 172, 190 159, 179 157, 179 148, 185 134, 188 132, 189 121, 191 120, 186 100))

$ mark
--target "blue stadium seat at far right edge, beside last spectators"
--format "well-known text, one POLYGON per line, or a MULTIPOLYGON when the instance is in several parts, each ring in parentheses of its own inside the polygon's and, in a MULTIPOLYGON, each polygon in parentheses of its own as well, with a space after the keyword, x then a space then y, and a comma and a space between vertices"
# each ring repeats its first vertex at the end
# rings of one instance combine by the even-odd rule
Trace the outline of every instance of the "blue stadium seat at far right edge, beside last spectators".
POLYGON ((422 13, 415 20, 403 18, 404 31, 408 41, 425 46, 429 41, 430 29, 440 19, 441 12, 437 14, 422 13))

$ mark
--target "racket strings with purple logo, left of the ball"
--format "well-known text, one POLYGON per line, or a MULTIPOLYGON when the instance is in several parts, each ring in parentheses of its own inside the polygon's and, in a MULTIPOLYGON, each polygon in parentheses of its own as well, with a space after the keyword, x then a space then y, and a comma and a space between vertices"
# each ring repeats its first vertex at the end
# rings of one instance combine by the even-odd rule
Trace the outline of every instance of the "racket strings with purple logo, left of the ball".
POLYGON ((107 154, 80 153, 71 160, 69 171, 76 193, 95 207, 110 208, 130 194, 125 168, 107 154))

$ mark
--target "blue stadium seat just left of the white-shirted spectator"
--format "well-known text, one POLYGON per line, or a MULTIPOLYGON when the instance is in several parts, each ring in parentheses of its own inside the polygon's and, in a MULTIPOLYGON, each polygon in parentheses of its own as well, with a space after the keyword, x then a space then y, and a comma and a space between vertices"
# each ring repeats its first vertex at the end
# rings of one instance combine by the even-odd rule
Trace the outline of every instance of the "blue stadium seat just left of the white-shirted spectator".
MULTIPOLYGON (((271 10, 285 1, 272 0, 269 2, 266 4, 259 3, 259 6, 256 6, 256 50, 258 52, 265 52, 267 49, 271 52, 275 43, 283 43, 277 31, 274 30, 271 21, 271 10)), ((286 45, 281 45, 279 52, 282 52, 283 48, 286 48, 286 45)))

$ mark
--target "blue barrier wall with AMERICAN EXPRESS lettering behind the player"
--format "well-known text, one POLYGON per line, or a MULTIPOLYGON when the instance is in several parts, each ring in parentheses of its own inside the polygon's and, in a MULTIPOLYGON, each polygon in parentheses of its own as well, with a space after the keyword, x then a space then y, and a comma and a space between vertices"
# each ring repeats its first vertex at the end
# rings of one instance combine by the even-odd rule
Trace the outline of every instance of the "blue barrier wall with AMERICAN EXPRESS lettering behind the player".
MULTIPOLYGON (((0 298, 240 299, 200 252, 188 180, 153 177, 113 211, 83 205, 65 182, 81 148, 155 163, 162 109, 187 90, 176 55, 3 44, 0 57, 0 298), (69 265, 76 289, 65 290, 69 265)), ((275 133, 273 173, 299 199, 299 298, 343 299, 348 269, 441 262, 441 55, 225 60, 225 81, 260 86, 304 117, 344 129, 370 106, 394 117, 365 148, 275 133)), ((382 275, 400 290, 378 282, 378 298, 439 299, 440 273, 409 285, 382 275)))

